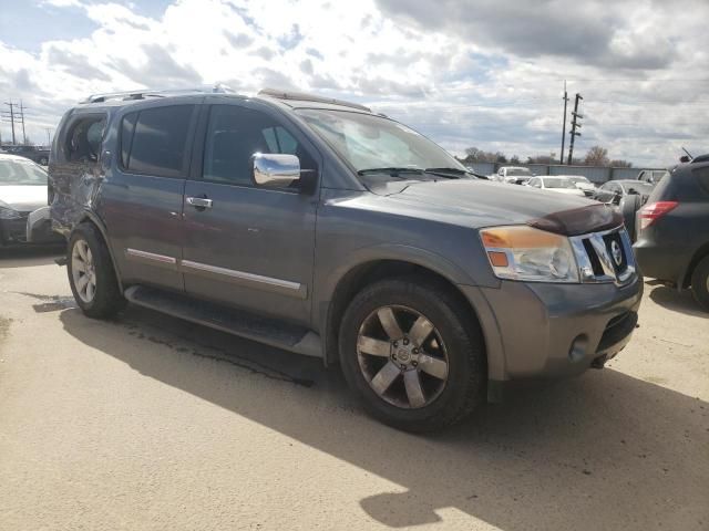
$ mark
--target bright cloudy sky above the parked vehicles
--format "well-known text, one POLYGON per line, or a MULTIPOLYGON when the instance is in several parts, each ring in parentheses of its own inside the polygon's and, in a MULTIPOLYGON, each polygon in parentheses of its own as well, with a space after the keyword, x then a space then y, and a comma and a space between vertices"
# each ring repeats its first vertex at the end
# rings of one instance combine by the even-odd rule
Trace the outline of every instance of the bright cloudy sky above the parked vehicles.
POLYGON ((708 19, 709 0, 0 0, 0 103, 40 144, 93 93, 297 88, 524 160, 558 157, 566 81, 575 155, 666 167, 709 152, 708 19))

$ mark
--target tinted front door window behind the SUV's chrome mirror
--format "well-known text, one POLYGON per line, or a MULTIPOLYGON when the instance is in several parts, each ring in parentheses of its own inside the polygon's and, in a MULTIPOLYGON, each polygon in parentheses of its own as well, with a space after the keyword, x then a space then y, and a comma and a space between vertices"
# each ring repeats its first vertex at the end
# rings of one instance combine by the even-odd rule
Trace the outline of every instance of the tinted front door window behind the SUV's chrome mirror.
POLYGON ((236 105, 213 105, 204 148, 203 178, 253 185, 251 155, 255 153, 296 155, 301 168, 316 167, 298 140, 268 114, 236 105))

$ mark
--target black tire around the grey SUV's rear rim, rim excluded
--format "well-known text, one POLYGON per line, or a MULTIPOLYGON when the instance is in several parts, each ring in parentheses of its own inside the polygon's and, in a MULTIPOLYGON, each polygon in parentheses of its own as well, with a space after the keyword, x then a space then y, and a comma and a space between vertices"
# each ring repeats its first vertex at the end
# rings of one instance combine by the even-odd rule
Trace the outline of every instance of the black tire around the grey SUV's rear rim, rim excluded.
POLYGON ((94 225, 84 222, 76 226, 69 239, 66 258, 66 272, 69 274, 71 291, 74 294, 76 304, 86 316, 93 319, 106 319, 115 315, 124 308, 125 299, 119 288, 109 249, 103 241, 101 232, 94 225), (75 246, 82 241, 85 242, 91 250, 93 274, 95 275, 95 289, 90 301, 85 301, 80 295, 74 281, 75 277, 72 256, 75 246))

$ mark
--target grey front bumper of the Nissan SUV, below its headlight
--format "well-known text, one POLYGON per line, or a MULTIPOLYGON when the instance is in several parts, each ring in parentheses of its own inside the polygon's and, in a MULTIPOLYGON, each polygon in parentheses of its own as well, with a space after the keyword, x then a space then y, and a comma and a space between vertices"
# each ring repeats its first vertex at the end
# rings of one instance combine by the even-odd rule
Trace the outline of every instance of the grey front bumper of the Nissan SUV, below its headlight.
POLYGON ((566 377, 603 366, 630 340, 643 298, 637 275, 623 287, 502 281, 497 289, 461 289, 479 310, 492 381, 566 377))

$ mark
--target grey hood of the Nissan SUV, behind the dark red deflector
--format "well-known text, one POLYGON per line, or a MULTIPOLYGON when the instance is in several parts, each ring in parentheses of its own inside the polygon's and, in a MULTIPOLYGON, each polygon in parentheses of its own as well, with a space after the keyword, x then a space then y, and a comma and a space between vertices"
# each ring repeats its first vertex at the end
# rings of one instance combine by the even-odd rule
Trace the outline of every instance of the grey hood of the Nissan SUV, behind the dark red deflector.
POLYGON ((465 225, 472 227, 521 225, 595 202, 580 196, 547 194, 526 186, 481 179, 393 181, 371 187, 371 191, 387 196, 400 207, 410 207, 408 210, 412 215, 432 218, 455 216, 464 218, 465 225))

